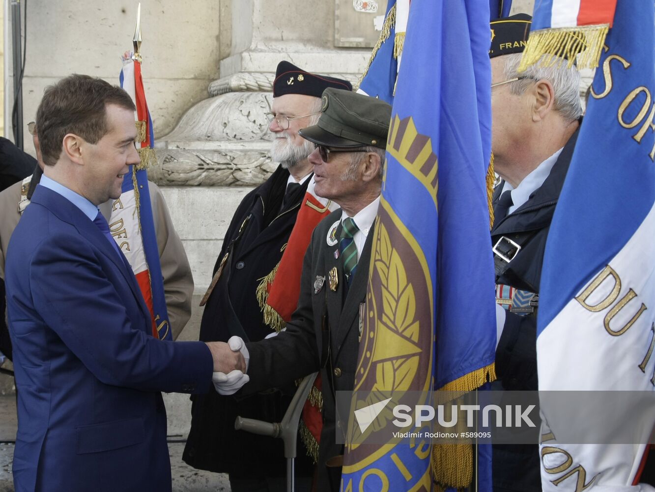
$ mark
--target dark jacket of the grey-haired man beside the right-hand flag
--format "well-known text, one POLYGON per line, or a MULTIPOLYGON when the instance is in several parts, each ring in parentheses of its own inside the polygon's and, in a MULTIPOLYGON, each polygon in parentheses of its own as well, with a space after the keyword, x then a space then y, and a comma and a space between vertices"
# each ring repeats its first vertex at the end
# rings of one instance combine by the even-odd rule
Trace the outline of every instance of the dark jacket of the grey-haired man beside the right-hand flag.
MULTIPOLYGON (((534 190, 521 207, 510 215, 496 220, 491 230, 495 245, 506 237, 521 245, 521 249, 507 263, 494 255, 496 284, 539 293, 541 267, 544 262, 546 238, 555 205, 578 138, 574 133, 564 146, 544 184, 534 190)), ((502 193, 504 182, 495 190, 494 209, 502 193)), ((504 390, 534 390, 536 373, 536 308, 523 316, 508 311, 502 336, 496 348, 496 374, 504 390)), ((496 384, 498 386, 498 384, 496 384)), ((500 389, 500 388, 498 388, 500 389)), ((495 491, 540 491, 540 459, 534 445, 493 446, 493 487, 495 491)))

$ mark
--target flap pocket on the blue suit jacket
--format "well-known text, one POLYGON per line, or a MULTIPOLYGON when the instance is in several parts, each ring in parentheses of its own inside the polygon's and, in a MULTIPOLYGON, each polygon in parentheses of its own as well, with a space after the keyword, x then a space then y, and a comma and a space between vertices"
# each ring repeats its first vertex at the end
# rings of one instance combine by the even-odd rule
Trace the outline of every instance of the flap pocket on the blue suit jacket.
POLYGON ((78 455, 120 449, 145 440, 145 428, 140 417, 78 426, 75 428, 75 434, 78 455))

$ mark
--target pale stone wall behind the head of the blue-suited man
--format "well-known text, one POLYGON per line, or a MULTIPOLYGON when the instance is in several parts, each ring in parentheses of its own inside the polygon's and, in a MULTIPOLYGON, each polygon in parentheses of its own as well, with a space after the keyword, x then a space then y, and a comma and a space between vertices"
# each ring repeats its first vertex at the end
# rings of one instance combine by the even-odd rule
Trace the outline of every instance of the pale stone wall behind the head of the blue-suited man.
MULTIPOLYGON (((143 81, 156 137, 172 131, 186 110, 208 96, 219 75, 219 24, 227 3, 141 0, 143 81)), ((43 89, 65 75, 86 73, 118 83, 121 55, 132 50, 137 2, 29 0, 22 8, 27 13, 25 123, 34 119, 43 89)), ((5 53, 11 53, 10 46, 5 53)), ((25 142, 33 154, 31 139, 25 142)))

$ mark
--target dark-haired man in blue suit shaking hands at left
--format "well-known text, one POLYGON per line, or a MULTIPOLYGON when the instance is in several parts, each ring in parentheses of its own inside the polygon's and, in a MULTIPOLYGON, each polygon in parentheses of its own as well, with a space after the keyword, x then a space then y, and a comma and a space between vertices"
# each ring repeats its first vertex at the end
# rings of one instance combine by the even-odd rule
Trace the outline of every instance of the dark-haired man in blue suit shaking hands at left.
POLYGON ((245 368, 227 344, 151 335, 98 211, 139 162, 134 110, 119 87, 71 75, 48 87, 37 112, 45 170, 6 268, 16 491, 170 491, 160 392, 206 392, 212 371, 245 368))

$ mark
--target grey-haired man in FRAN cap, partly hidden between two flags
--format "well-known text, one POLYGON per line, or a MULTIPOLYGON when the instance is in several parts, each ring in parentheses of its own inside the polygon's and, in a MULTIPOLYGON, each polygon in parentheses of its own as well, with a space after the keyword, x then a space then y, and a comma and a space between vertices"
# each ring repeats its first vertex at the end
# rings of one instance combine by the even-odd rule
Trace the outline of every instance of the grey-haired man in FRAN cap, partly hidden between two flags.
MULTIPOLYGON (((536 312, 546 237, 573 154, 582 106, 567 60, 518 73, 531 17, 491 22, 492 151, 502 178, 491 230, 496 267, 496 373, 505 390, 537 390, 536 312), (502 307, 501 307, 502 306, 502 307)), ((540 491, 537 443, 495 445, 495 491, 540 491)))

